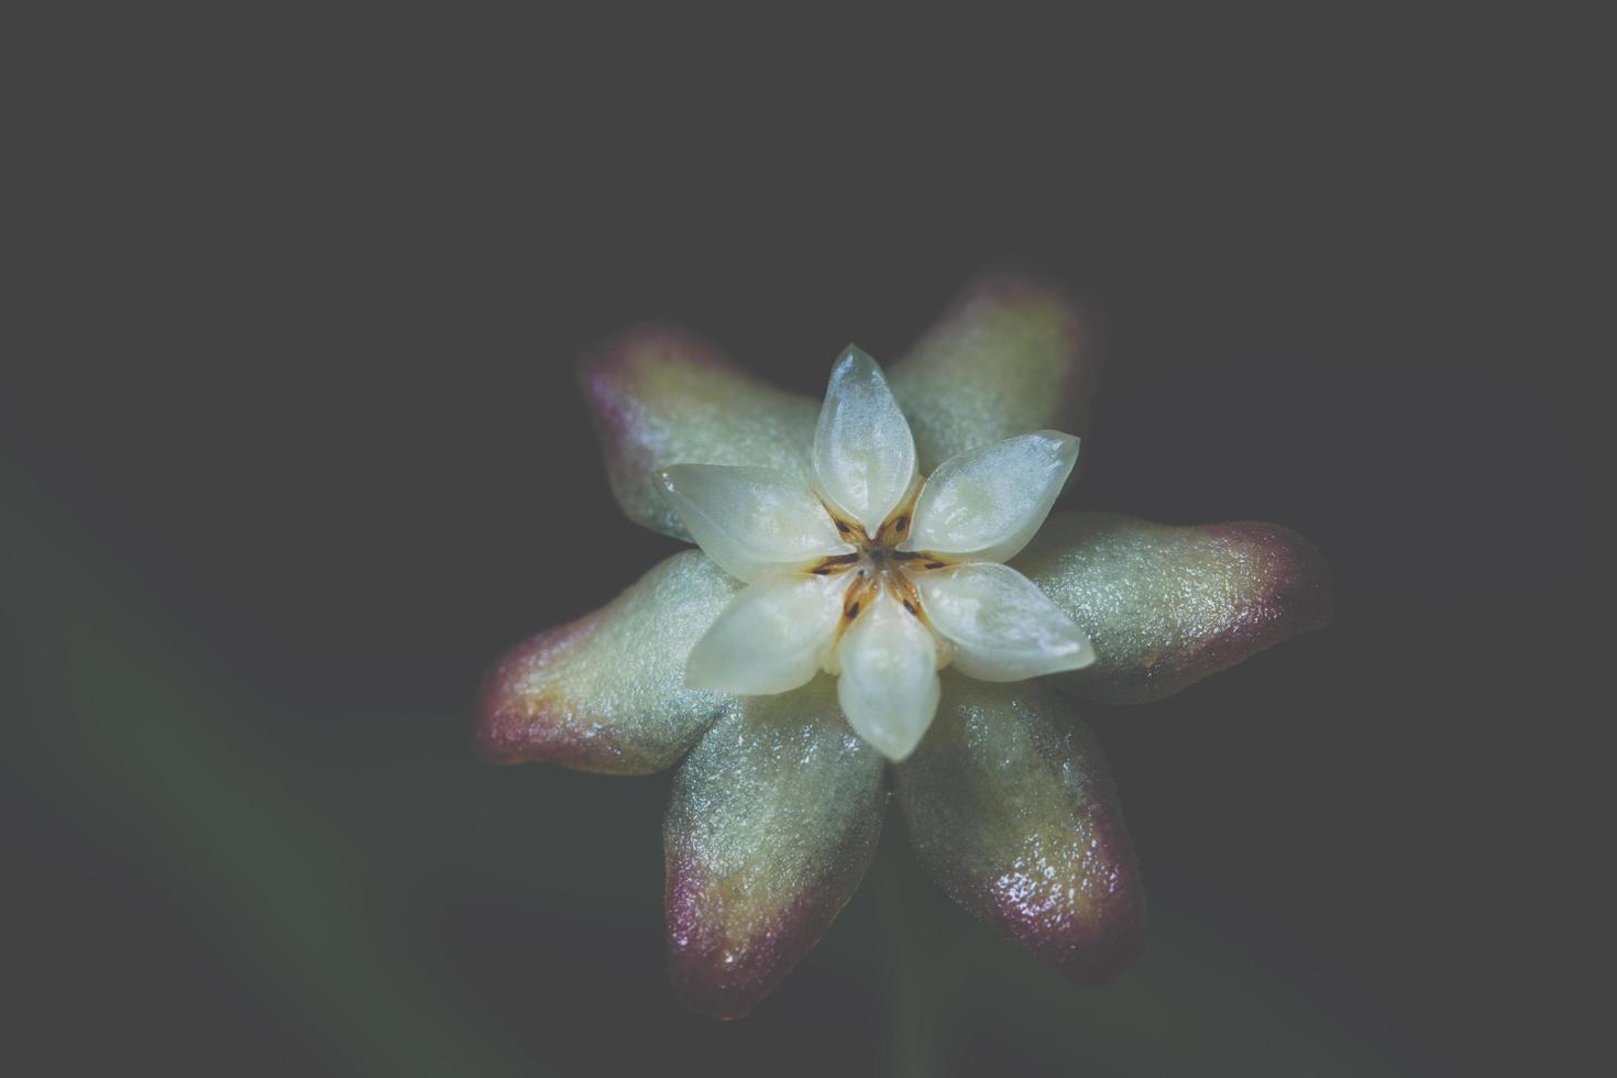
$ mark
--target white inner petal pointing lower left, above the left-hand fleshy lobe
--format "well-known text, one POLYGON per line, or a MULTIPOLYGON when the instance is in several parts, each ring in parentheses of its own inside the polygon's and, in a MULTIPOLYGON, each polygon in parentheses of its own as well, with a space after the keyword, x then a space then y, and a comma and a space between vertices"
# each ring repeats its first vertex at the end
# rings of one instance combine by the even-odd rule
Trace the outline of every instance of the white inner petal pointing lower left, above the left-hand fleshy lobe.
POLYGON ((690 651, 686 685, 770 695, 807 685, 842 621, 847 579, 789 577, 754 583, 729 601, 690 651))

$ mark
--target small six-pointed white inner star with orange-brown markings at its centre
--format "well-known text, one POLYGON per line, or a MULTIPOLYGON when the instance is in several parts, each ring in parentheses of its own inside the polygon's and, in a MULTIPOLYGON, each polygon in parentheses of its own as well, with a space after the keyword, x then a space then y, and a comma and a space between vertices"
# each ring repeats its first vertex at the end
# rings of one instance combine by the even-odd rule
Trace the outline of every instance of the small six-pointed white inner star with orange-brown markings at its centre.
POLYGON ((954 456, 925 480, 881 368, 849 347, 813 440, 817 483, 765 467, 658 474, 697 545, 747 587, 695 645, 686 684, 773 695, 838 674, 854 731, 910 755, 938 671, 1011 682, 1095 661, 1088 638, 1011 559, 1045 522, 1079 440, 1041 430, 954 456))

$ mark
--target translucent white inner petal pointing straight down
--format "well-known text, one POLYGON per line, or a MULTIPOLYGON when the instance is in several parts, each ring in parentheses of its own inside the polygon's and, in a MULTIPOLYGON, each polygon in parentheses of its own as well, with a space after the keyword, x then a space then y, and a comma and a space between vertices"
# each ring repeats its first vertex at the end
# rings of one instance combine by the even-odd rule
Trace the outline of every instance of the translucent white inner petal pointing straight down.
POLYGON ((886 592, 842 634, 836 698, 867 743, 897 763, 910 755, 938 711, 938 645, 886 592))

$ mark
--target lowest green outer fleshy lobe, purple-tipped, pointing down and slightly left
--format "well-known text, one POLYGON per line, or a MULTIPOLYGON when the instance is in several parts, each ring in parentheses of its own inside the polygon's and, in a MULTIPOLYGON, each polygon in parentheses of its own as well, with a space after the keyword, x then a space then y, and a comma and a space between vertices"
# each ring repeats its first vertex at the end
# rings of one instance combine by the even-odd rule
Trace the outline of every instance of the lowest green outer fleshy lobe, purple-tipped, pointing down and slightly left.
POLYGON ((881 768, 830 677, 749 697, 697 742, 663 827, 669 971, 687 1007, 739 1018, 820 941, 875 853, 881 768))

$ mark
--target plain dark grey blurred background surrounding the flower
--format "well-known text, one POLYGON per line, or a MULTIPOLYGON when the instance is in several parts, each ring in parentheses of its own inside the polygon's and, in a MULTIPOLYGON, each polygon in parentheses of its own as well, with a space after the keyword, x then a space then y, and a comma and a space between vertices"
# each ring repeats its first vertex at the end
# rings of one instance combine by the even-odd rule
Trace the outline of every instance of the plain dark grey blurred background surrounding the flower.
POLYGON ((1268 19, 1243 52, 1135 36, 1137 63, 1100 29, 728 29, 750 37, 197 15, 18 39, 39 63, 0 396, 8 1052, 1543 1065, 1588 947, 1562 731, 1594 721, 1568 676, 1591 356, 1562 338, 1577 291, 1538 288, 1583 242, 1562 39, 1268 19), (611 501, 574 364, 661 317, 818 394, 842 344, 896 357, 1004 263, 1104 318, 1066 504, 1294 527, 1336 624, 1085 708, 1153 900, 1117 984, 1072 989, 917 899, 889 844, 752 1020, 687 1015, 668 777, 469 752, 505 646, 676 546, 611 501))

